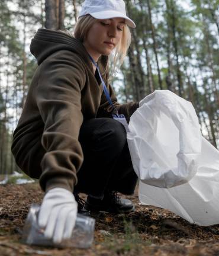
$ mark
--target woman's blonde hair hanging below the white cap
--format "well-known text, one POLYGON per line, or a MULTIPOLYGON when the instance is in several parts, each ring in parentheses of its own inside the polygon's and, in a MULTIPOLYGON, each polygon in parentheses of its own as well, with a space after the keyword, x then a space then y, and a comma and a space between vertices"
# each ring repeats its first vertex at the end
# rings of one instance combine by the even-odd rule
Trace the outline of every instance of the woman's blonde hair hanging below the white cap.
MULTIPOLYGON (((86 40, 88 31, 95 22, 96 22, 96 19, 89 14, 80 17, 75 24, 74 37, 76 39, 79 39, 82 42, 86 40)), ((114 56, 112 56, 113 59, 112 59, 111 77, 118 72, 118 70, 120 69, 120 66, 123 64, 124 57, 127 55, 127 50, 128 50, 128 47, 130 46, 130 43, 131 43, 130 29, 128 28, 127 24, 125 24, 123 28, 123 36, 121 37, 120 42, 117 44, 117 46, 113 51, 114 56)), ((107 74, 109 72, 108 56, 101 56, 100 61, 105 66, 103 76, 108 76, 107 74)))

